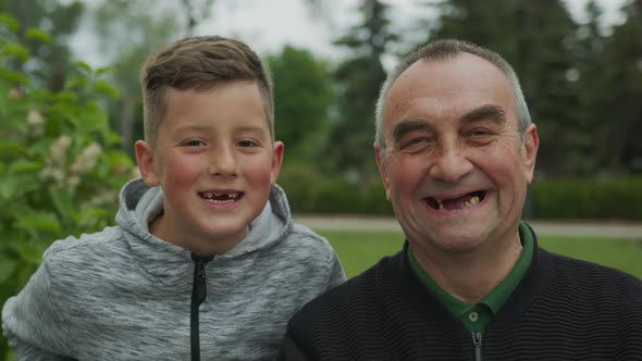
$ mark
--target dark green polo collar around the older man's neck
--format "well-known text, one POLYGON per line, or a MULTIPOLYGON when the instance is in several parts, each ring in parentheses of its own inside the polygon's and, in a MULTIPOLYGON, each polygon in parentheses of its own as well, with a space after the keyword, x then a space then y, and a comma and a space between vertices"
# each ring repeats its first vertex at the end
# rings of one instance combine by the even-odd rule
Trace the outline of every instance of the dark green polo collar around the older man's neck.
POLYGON ((506 303, 517 285, 526 275, 533 256, 533 235, 529 227, 520 222, 519 238, 522 245, 521 254, 508 276, 489 295, 476 304, 468 304, 446 292, 417 262, 412 249, 408 247, 408 259, 415 275, 455 318, 460 320, 469 331, 483 331, 491 319, 506 303))

